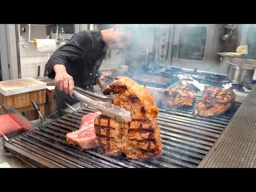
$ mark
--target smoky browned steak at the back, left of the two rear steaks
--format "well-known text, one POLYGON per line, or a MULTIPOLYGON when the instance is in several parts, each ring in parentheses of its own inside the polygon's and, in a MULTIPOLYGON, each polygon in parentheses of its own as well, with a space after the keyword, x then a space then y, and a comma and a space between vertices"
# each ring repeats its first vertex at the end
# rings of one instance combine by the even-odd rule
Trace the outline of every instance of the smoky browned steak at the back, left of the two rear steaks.
POLYGON ((193 106, 195 94, 193 92, 193 86, 186 83, 172 89, 160 90, 153 94, 153 97, 157 103, 157 106, 172 108, 193 106))

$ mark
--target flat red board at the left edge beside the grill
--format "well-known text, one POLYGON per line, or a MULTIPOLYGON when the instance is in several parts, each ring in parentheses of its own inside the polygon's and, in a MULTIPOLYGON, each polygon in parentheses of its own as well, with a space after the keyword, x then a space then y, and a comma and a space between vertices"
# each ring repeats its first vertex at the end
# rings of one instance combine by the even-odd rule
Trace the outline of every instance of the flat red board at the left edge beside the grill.
POLYGON ((3 134, 22 131, 23 128, 9 114, 0 115, 0 137, 3 134))

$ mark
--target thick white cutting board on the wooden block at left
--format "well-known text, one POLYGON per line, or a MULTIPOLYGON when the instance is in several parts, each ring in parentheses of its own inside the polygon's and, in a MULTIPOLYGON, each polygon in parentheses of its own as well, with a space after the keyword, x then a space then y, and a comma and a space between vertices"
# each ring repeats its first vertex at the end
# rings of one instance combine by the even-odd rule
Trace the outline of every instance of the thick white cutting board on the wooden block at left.
POLYGON ((46 83, 31 77, 0 82, 0 93, 4 96, 42 89, 46 89, 46 83))

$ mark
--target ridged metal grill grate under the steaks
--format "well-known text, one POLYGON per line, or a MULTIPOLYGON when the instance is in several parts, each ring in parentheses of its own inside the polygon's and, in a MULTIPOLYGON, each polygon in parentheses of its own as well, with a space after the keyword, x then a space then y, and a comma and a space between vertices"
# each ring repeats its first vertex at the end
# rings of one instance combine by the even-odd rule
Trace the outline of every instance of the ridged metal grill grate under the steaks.
MULTIPOLYGON (((147 88, 151 93, 157 89, 147 88)), ((193 107, 159 108, 162 152, 159 158, 137 161, 103 156, 96 149, 84 150, 66 143, 66 134, 79 129, 81 118, 95 111, 82 108, 4 142, 4 149, 37 167, 197 167, 219 138, 241 103, 213 117, 193 117, 193 107)))

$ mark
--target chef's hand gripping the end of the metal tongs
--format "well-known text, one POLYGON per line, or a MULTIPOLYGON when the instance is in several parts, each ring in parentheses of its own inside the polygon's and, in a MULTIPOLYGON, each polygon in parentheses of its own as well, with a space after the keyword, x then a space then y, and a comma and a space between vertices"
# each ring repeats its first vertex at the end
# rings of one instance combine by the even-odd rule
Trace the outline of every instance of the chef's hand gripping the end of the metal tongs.
POLYGON ((55 71, 55 84, 60 91, 65 91, 66 94, 73 94, 74 81, 73 77, 68 75, 66 67, 63 65, 54 65, 53 70, 55 71))

